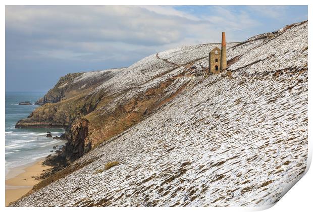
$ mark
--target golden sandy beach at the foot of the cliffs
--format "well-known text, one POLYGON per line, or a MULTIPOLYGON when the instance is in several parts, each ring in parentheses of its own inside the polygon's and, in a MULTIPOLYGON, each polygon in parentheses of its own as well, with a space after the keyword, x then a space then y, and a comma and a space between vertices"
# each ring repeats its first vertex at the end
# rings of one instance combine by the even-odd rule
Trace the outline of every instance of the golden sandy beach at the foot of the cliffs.
POLYGON ((35 177, 39 176, 46 169, 51 168, 42 165, 42 162, 43 158, 40 158, 40 160, 32 164, 17 167, 10 171, 6 177, 6 206, 30 191, 40 181, 35 180, 35 177))

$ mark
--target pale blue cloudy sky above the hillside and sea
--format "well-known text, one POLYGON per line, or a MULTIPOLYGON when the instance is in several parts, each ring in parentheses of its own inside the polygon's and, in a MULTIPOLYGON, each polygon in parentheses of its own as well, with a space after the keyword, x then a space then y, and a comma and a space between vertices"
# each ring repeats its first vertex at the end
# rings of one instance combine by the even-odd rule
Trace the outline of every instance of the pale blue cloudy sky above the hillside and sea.
POLYGON ((81 71, 307 20, 307 6, 6 6, 6 91, 47 91, 81 71))

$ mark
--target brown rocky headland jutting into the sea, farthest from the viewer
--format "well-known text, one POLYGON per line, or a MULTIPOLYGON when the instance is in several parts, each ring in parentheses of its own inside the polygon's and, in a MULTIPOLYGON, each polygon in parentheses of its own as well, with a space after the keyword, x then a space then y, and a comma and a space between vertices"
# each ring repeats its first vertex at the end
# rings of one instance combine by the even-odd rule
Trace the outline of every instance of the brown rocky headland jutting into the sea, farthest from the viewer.
POLYGON ((20 120, 18 127, 68 127, 76 118, 94 110, 99 96, 86 95, 101 83, 115 76, 120 70, 67 74, 61 77, 54 88, 44 95, 38 104, 44 104, 31 113, 27 119, 20 120))

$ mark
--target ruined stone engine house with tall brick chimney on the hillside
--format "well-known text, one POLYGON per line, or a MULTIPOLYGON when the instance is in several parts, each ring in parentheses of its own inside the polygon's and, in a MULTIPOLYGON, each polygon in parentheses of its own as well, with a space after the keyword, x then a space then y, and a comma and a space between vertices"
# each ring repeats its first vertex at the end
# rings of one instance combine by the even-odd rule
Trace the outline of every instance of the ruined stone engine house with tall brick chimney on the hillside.
POLYGON ((226 38, 225 32, 222 32, 222 48, 215 47, 208 55, 209 70, 211 73, 220 73, 221 70, 227 67, 226 62, 226 38))

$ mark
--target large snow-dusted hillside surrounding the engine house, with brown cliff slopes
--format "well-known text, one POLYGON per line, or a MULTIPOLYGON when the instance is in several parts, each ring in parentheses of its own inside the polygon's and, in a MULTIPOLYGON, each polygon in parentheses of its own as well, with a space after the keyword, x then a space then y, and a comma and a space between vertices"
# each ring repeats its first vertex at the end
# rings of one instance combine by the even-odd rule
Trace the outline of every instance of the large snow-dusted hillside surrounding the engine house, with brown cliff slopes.
POLYGON ((17 126, 67 127, 73 163, 11 206, 278 201, 307 162, 307 22, 228 44, 227 70, 211 75, 215 46, 62 81, 63 94, 49 98, 57 102, 17 126))

